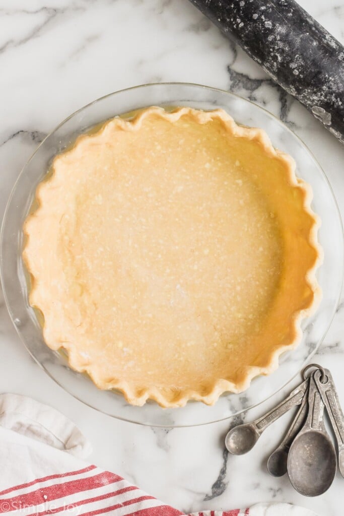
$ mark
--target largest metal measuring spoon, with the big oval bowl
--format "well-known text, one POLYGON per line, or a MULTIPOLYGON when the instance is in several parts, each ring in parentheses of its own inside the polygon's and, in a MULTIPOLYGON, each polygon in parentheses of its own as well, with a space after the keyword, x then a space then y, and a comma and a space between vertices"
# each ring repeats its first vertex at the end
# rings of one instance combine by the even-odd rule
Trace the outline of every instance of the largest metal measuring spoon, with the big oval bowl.
POLYGON ((331 486, 337 470, 336 451, 323 423, 324 404, 309 378, 308 414, 288 454, 287 469, 292 486, 304 496, 318 496, 331 486))

